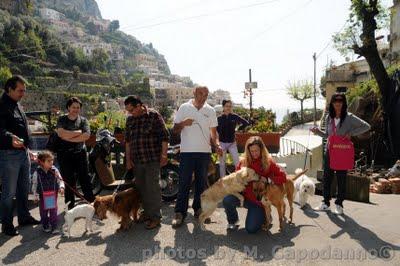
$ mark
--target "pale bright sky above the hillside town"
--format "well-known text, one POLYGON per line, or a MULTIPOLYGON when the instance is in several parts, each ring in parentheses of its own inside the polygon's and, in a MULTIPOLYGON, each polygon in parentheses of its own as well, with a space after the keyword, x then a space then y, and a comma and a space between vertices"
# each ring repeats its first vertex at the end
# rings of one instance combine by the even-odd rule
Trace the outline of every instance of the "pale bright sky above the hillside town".
POLYGON ((173 73, 211 90, 229 90, 244 104, 248 100, 241 91, 249 68, 259 86, 256 106, 295 110, 300 104, 287 96, 285 86, 290 80, 312 79, 313 53, 323 51, 318 82, 329 60, 344 61, 329 43, 348 18, 350 0, 97 2, 104 18, 118 19, 122 31, 153 43, 173 73))

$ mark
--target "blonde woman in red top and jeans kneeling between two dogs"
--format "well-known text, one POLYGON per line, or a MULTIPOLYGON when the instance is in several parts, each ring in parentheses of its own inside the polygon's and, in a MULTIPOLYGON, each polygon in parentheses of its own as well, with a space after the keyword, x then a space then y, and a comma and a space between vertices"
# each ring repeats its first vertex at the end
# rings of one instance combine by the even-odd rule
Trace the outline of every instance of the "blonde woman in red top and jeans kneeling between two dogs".
MULTIPOLYGON (((260 137, 254 136, 247 140, 244 155, 236 170, 241 167, 249 167, 260 177, 269 178, 277 185, 286 182, 285 172, 272 160, 260 137)), ((248 233, 256 233, 265 222, 264 207, 253 193, 253 182, 247 185, 242 194, 244 197, 243 205, 248 210, 245 225, 246 231, 248 233)), ((240 206, 240 200, 234 195, 228 195, 223 200, 223 206, 228 219, 228 230, 236 230, 239 223, 236 208, 240 206)))

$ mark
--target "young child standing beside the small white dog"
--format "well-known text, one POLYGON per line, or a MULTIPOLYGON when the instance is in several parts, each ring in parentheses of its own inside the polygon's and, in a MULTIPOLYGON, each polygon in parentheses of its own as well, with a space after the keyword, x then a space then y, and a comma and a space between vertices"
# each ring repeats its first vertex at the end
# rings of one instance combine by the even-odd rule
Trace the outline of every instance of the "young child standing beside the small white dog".
POLYGON ((64 195, 64 182, 60 172, 53 165, 54 156, 50 151, 38 154, 39 166, 32 176, 32 191, 39 202, 43 231, 59 233, 57 228, 57 194, 64 195))

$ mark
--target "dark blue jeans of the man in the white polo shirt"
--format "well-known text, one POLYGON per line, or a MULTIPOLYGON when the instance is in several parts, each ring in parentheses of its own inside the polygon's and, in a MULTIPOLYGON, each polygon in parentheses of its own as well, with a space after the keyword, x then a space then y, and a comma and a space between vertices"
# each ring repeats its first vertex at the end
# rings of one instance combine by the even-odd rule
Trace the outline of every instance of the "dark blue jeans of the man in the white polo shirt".
POLYGON ((189 193, 190 187, 192 185, 193 173, 195 192, 192 208, 194 209, 194 211, 197 211, 201 208, 200 195, 206 188, 206 178, 210 158, 210 153, 184 152, 180 154, 179 191, 175 205, 176 213, 179 212, 184 217, 186 217, 189 205, 189 193))

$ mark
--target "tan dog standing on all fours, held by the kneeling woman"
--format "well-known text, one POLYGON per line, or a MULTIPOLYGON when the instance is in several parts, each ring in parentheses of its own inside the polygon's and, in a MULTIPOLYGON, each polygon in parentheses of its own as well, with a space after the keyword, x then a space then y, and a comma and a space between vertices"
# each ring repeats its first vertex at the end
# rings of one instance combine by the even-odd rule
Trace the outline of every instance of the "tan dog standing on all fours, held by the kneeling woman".
POLYGON ((286 218, 286 204, 284 201, 285 196, 288 200, 290 208, 289 223, 292 223, 293 199, 295 194, 294 181, 300 176, 304 175, 307 171, 308 169, 302 170, 296 175, 288 175, 286 183, 282 185, 269 184, 263 181, 253 183, 254 195, 257 197, 257 200, 260 200, 262 202, 265 208, 266 222, 263 226, 265 230, 268 230, 271 224, 271 205, 273 205, 278 211, 279 230, 282 231, 283 219, 286 218))

